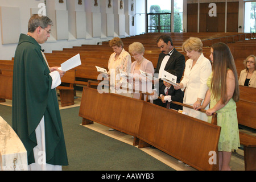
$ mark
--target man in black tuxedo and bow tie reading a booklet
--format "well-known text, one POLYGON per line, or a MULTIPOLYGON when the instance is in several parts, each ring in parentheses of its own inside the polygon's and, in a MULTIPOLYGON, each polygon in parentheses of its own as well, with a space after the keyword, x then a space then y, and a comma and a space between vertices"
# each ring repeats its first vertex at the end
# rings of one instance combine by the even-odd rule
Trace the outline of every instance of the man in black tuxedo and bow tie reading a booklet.
MULTIPOLYGON (((159 54, 158 64, 155 69, 155 74, 158 74, 159 78, 159 88, 163 85, 163 80, 161 80, 163 70, 174 69, 177 73, 177 83, 179 83, 185 69, 184 55, 174 48, 172 39, 168 35, 159 36, 156 43, 160 51, 162 51, 159 54)), ((154 100, 154 104, 163 106, 163 102, 160 99, 154 100)))

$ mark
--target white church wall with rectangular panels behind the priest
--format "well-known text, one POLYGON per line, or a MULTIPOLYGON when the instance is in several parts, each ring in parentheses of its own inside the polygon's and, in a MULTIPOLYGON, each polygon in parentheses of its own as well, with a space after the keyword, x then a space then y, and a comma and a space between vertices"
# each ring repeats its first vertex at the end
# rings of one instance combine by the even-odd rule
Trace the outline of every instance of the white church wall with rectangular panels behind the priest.
POLYGON ((46 0, 43 11, 44 0, 0 0, 0 60, 14 57, 19 35, 27 34, 28 20, 35 13, 45 13, 53 21, 51 37, 41 45, 48 53, 135 35, 135 1, 46 0))

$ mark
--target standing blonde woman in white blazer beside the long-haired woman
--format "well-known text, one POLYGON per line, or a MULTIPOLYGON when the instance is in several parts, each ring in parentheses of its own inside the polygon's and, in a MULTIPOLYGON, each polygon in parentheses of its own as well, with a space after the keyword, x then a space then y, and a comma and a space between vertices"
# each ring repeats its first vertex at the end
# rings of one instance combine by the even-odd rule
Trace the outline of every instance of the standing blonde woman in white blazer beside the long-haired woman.
POLYGON ((183 79, 180 84, 177 84, 178 86, 175 86, 175 89, 185 89, 183 103, 194 108, 183 107, 183 111, 191 117, 207 121, 207 115, 195 109, 203 103, 207 92, 207 80, 212 73, 212 65, 202 53, 203 43, 199 38, 189 38, 183 43, 182 49, 189 59, 185 63, 183 79))

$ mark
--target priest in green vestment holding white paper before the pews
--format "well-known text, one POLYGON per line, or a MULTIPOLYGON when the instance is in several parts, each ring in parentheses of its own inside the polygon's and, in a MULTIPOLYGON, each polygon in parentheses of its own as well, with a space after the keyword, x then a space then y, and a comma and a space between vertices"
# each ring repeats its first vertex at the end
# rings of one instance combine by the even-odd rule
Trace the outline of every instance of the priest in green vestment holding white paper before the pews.
POLYGON ((32 15, 28 33, 20 34, 13 72, 13 129, 27 150, 31 170, 61 170, 68 165, 56 87, 65 72, 49 68, 40 44, 52 21, 32 15))

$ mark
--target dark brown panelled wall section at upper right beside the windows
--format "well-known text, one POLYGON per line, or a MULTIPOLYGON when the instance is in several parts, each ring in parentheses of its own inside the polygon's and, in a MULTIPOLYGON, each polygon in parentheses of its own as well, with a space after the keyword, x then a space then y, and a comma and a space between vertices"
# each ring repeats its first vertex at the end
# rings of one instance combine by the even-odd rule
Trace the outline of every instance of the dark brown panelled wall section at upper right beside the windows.
MULTIPOLYGON (((212 32, 215 32, 215 31, 243 32, 243 29, 244 29, 243 0, 200 0, 200 1, 184 0, 184 1, 187 1, 188 11, 189 11, 188 13, 186 12, 187 15, 185 15, 186 16, 185 20, 186 22, 188 22, 185 26, 188 27, 187 28, 188 32, 206 32, 206 30, 208 29, 207 27, 209 26, 209 23, 218 24, 218 26, 220 26, 218 27, 218 30, 213 30, 212 32), (215 18, 215 20, 212 20, 214 18, 209 19, 209 16, 207 16, 210 8, 205 6, 208 5, 209 3, 216 3, 218 17, 215 18), (227 10, 225 10, 225 3, 227 3, 227 10), (225 11, 227 12, 227 17, 225 17, 225 11)), ((184 22, 184 18, 183 18, 183 22, 184 22)), ((215 29, 217 29, 217 27, 215 27, 215 29)))

